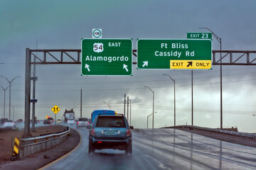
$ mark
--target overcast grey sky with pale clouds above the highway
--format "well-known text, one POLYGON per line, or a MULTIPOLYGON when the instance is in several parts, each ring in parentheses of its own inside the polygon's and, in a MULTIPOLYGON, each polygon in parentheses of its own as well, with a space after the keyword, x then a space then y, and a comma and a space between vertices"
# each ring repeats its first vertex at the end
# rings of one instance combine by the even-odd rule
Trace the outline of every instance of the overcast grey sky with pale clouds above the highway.
MULTIPOLYGON (((11 86, 15 119, 24 118, 25 49, 80 49, 81 38, 92 38, 92 28, 102 28, 102 38, 186 39, 187 32, 207 32, 222 38, 223 50, 256 50, 256 1, 0 1, 0 75, 16 79, 11 86)), ((213 38, 213 50, 219 50, 213 38)), ((134 62, 136 57, 134 57, 134 62)), ((238 126, 256 132, 256 69, 223 66, 223 126, 238 126)), ((53 116, 57 105, 62 118, 66 106, 90 117, 95 109, 124 112, 124 94, 132 98, 132 125, 146 128, 155 94, 155 127, 174 125, 174 84, 176 79, 176 125, 191 124, 191 71, 137 70, 132 77, 81 77, 80 65, 37 65, 36 116, 53 116)), ((220 67, 193 74, 194 125, 220 126, 220 67)), ((0 78, 1 86, 8 86, 0 78)), ((0 91, 3 118, 4 91, 0 91)), ((12 118, 13 108, 11 108, 12 118)), ((6 91, 9 117, 9 91, 6 91)), ((151 127, 151 118, 149 118, 151 127)))

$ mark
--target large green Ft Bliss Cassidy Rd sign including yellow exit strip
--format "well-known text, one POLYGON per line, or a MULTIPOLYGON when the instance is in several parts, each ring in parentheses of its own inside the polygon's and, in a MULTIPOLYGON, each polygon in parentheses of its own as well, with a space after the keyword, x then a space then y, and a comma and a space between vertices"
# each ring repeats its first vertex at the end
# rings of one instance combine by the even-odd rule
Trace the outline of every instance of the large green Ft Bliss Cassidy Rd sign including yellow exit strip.
POLYGON ((138 69, 210 69, 211 40, 137 40, 138 69))

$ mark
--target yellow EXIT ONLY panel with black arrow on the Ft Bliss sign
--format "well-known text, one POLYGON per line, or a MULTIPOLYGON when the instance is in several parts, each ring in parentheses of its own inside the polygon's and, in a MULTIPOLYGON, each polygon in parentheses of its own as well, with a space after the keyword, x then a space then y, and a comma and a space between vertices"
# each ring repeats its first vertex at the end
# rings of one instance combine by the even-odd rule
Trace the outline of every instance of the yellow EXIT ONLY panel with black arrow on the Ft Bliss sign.
POLYGON ((210 69, 211 60, 170 60, 170 69, 210 69))

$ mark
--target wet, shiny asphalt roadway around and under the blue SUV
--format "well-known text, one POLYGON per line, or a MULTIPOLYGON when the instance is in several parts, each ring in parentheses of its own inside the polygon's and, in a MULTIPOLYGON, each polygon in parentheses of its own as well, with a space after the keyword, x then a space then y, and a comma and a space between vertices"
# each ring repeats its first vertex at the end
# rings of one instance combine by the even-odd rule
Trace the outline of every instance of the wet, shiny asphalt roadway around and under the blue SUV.
MULTIPOLYGON (((75 125, 70 125, 75 128, 75 125)), ((88 154, 86 128, 75 152, 46 169, 256 169, 256 148, 174 129, 133 131, 133 153, 103 149, 88 154)))

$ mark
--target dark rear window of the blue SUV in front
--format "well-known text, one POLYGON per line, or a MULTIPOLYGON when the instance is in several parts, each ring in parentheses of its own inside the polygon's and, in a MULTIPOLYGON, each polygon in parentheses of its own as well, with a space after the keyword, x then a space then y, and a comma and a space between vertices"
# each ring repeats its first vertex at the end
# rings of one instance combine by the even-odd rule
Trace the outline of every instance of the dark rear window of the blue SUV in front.
POLYGON ((100 128, 126 128, 124 118, 121 116, 100 116, 95 127, 100 128))

